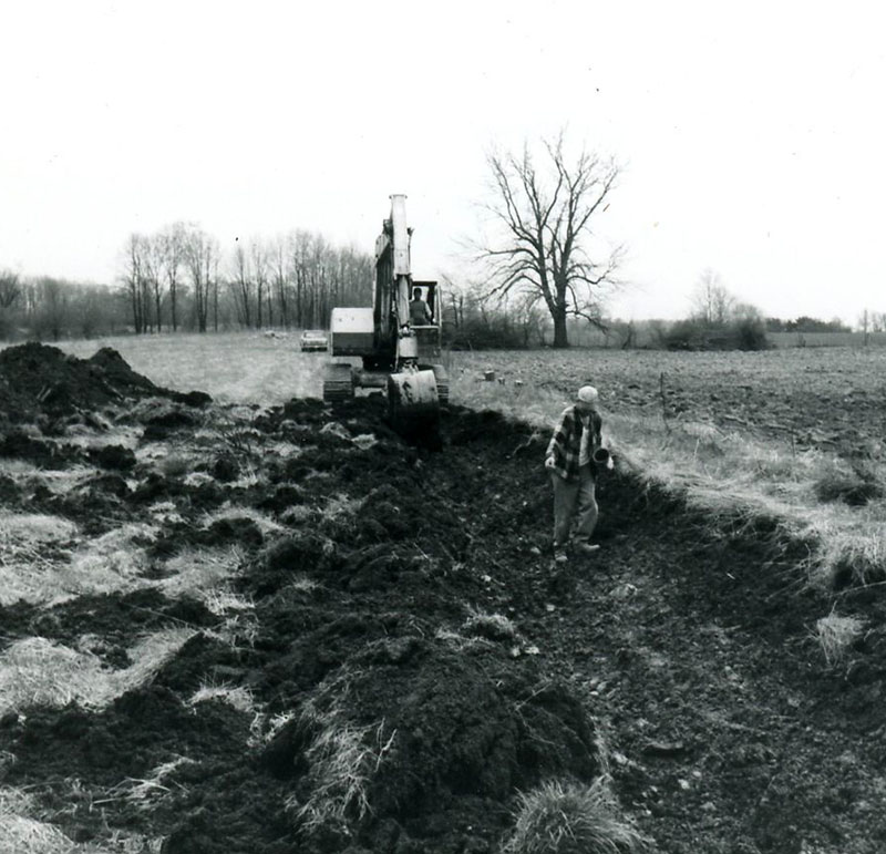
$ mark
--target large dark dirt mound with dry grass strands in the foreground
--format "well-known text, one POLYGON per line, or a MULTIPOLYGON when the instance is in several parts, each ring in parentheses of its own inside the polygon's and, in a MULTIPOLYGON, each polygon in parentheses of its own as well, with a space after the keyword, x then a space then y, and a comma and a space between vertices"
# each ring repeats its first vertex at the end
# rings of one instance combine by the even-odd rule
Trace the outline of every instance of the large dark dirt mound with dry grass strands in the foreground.
POLYGON ((464 826, 494 842, 515 789, 547 775, 589 781, 599 771, 595 734, 565 686, 506 650, 388 636, 363 645, 300 703, 265 761, 292 782, 289 812, 312 847, 341 850, 357 836, 372 851, 392 842, 460 851, 464 826), (363 789, 350 798, 332 778, 348 733, 368 742, 351 769, 364 775, 363 789))

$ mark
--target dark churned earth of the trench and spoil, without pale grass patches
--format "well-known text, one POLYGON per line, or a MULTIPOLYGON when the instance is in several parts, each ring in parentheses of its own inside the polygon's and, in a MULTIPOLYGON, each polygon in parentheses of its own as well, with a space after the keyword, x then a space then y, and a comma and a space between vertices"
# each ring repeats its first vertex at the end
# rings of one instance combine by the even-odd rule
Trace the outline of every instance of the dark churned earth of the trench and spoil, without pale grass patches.
POLYGON ((0 395, 7 461, 94 472, 60 495, 0 464, 7 512, 97 537, 157 524, 152 504, 169 502, 150 573, 236 544, 229 586, 254 603, 234 640, 204 601, 156 588, 0 608, 3 647, 91 632, 112 668, 140 632, 195 630, 101 711, 0 720, 2 785, 34 793, 72 840, 122 830, 163 837, 166 854, 493 852, 519 791, 609 774, 650 851, 886 850, 882 588, 808 589, 806 546, 775 521, 714 527, 617 465, 599 482, 600 551, 555 570, 547 436, 494 412, 451 407, 433 451, 394 433, 379 398, 235 418, 158 389, 114 351, 81 361, 39 344, 0 352, 0 395), (235 426, 205 435, 217 423, 235 426), (141 431, 135 452, 70 441, 72 428, 121 425, 141 431), (196 453, 177 467, 137 453, 158 442, 196 453), (219 507, 241 515, 207 524, 219 507), (868 630, 827 667, 812 629, 834 597, 868 630), (190 704, 207 682, 247 688, 260 717, 190 704), (323 775, 336 744, 358 751, 361 796, 323 775), (120 795, 179 758, 153 798, 120 795))

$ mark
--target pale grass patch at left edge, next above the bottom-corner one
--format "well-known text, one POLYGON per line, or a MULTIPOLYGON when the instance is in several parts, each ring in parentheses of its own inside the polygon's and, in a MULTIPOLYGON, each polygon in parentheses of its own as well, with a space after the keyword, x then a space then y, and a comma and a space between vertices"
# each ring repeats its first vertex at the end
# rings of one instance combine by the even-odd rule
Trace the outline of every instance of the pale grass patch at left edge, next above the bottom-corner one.
POLYGON ((0 655, 0 714, 33 706, 62 708, 70 702, 102 709, 150 681, 195 634, 166 629, 148 635, 130 650, 133 663, 122 670, 109 669, 92 652, 45 638, 18 640, 0 655))

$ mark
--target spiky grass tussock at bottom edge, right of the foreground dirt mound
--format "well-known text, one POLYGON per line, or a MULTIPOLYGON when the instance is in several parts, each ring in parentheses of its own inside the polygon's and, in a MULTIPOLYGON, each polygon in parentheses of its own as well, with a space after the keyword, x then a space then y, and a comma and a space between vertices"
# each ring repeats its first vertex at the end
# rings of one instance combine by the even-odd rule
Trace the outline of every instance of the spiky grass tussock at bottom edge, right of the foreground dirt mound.
POLYGON ((558 780, 519 795, 516 825, 505 854, 626 854, 640 851, 642 835, 619 814, 607 782, 558 780))

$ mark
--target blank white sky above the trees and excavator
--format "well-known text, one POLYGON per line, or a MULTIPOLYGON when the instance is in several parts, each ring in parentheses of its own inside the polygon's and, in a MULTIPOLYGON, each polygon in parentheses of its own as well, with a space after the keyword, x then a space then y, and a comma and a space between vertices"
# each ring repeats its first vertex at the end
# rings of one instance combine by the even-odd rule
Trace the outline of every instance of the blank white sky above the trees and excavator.
POLYGON ((112 281, 132 231, 301 227, 459 270, 492 145, 566 126, 624 165, 621 317, 704 268, 764 313, 886 311, 886 7, 870 2, 20 2, 0 50, 0 267, 112 281), (885 10, 885 11, 882 11, 885 10))

